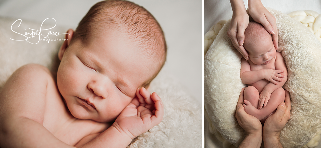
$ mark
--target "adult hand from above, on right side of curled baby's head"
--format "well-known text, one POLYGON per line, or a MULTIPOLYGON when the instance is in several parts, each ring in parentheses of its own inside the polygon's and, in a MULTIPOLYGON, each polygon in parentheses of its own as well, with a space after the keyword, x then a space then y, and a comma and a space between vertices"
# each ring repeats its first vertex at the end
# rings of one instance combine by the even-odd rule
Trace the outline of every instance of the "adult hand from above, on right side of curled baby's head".
POLYGON ((250 16, 257 23, 261 23, 272 35, 275 49, 278 48, 278 29, 275 24, 275 17, 263 6, 260 0, 248 0, 248 11, 250 16))

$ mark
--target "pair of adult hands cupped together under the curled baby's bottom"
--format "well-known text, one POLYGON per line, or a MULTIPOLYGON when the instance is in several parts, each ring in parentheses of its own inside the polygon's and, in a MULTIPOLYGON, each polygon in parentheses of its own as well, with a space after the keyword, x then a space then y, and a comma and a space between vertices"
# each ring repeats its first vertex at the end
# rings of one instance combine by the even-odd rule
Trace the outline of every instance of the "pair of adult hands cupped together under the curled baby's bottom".
POLYGON ((285 91, 284 103, 280 103, 276 112, 266 119, 262 133, 260 121, 244 111, 243 91, 244 89, 241 91, 235 112, 235 118, 239 125, 245 130, 245 138, 239 147, 260 147, 263 137, 265 147, 282 148, 280 133, 290 119, 291 100, 289 92, 285 91))

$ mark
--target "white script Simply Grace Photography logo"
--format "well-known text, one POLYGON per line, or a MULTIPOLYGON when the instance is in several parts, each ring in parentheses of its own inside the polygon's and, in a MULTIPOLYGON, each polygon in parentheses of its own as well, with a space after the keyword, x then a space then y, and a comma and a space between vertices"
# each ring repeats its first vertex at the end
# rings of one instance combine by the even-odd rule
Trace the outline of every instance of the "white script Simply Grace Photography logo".
MULTIPOLYGON (((53 19, 54 22, 55 22, 55 26, 56 27, 56 20, 54 18, 47 18, 47 19, 53 19)), ((10 38, 11 40, 14 40, 14 41, 27 41, 31 44, 38 44, 40 41, 43 42, 43 41, 68 41, 68 39, 65 39, 65 34, 67 33, 64 33, 64 34, 61 34, 61 33, 57 33, 57 32, 51 32, 50 29, 54 28, 54 27, 51 27, 51 28, 48 28, 48 29, 44 29, 42 28, 42 25, 43 23, 47 20, 45 19, 42 23, 41 23, 41 26, 40 26, 40 29, 31 29, 28 27, 28 29, 30 30, 27 30, 27 29, 24 29, 25 32, 24 32, 24 35, 21 34, 21 33, 18 33, 16 32, 18 29, 17 28, 13 28, 13 24, 15 24, 17 21, 20 21, 19 23, 19 26, 18 28, 20 27, 21 25, 21 22, 22 22, 22 19, 17 19, 16 21, 13 22, 13 24, 11 25, 11 30, 14 32, 14 33, 17 33, 22 36, 24 36, 22 40, 17 40, 17 39, 12 39, 10 38), (48 34, 47 34, 47 30, 48 30, 48 34), (29 31, 29 32, 28 32, 29 31), (31 31, 31 32, 30 32, 31 31), (50 35, 53 35, 54 38, 50 38, 50 35), (60 38, 58 37, 55 37, 55 36, 58 36, 60 35, 60 38), (32 41, 30 41, 30 38, 32 39, 32 41), (36 39, 35 39, 36 38, 36 39), (36 43, 37 42, 37 43, 36 43)))

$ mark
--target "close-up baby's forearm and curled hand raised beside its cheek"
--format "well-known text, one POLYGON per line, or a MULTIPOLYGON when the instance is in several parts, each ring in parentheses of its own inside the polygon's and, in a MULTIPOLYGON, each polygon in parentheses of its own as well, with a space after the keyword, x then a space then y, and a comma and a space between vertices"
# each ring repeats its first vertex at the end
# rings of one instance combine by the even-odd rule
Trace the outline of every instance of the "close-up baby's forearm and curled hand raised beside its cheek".
POLYGON ((163 119, 163 103, 154 92, 137 89, 137 97, 120 113, 114 124, 82 147, 126 147, 163 119))

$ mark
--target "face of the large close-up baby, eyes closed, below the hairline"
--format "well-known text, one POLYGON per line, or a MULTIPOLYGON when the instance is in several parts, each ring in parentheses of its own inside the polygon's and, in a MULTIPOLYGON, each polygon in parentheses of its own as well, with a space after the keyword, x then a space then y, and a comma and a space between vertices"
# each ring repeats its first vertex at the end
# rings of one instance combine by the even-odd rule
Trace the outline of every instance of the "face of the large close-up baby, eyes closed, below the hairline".
POLYGON ((57 72, 58 89, 71 114, 78 119, 109 122, 135 97, 153 74, 152 60, 115 30, 93 37, 84 47, 68 46, 57 72))

